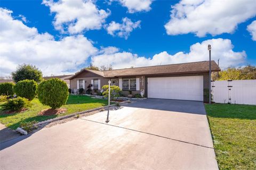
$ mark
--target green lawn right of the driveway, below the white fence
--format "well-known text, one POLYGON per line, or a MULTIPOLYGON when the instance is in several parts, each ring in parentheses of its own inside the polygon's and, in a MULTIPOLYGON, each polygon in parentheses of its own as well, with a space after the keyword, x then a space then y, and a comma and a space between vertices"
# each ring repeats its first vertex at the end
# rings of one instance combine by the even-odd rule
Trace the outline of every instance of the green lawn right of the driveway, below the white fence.
POLYGON ((220 169, 256 169, 256 106, 205 104, 220 169))

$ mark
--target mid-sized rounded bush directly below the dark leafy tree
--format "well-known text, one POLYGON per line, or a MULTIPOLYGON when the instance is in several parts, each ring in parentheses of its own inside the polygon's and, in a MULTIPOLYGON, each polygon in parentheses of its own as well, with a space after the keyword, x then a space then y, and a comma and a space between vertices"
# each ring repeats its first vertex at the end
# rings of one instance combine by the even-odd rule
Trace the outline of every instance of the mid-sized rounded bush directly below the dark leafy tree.
POLYGON ((22 80, 15 84, 13 89, 17 96, 33 100, 36 97, 37 83, 35 80, 22 80))

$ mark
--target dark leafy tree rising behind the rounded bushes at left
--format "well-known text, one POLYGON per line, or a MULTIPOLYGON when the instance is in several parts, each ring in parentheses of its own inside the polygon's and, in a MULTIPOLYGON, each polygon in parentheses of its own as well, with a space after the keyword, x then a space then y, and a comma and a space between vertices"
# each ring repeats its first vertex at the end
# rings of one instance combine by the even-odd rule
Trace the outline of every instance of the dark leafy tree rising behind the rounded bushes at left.
POLYGON ((12 72, 12 78, 17 83, 21 80, 35 80, 37 83, 43 80, 42 71, 38 70, 35 65, 22 64, 18 65, 17 70, 12 72))

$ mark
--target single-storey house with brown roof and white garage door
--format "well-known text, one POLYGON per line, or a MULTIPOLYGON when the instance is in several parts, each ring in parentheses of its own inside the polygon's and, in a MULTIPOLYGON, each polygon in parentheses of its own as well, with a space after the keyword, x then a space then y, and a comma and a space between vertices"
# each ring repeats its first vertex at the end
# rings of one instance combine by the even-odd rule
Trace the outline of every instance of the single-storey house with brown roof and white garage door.
MULTIPOLYGON (((211 71, 220 71, 214 61, 211 61, 211 71)), ((96 92, 111 80, 111 85, 119 86, 124 95, 131 90, 133 95, 145 91, 148 98, 209 100, 209 61, 110 71, 84 69, 69 80, 71 89, 86 90, 92 84, 91 89, 96 92)))

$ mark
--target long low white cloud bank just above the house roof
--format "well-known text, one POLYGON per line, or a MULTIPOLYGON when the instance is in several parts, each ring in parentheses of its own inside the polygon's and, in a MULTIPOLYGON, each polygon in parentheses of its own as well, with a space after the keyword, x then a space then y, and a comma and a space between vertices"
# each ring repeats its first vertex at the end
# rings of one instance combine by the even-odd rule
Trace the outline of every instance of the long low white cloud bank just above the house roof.
POLYGON ((207 45, 212 46, 212 60, 217 61, 220 58, 220 66, 237 66, 243 64, 246 59, 246 53, 234 52, 233 45, 229 39, 210 39, 202 43, 196 43, 190 46, 189 53, 179 52, 174 55, 167 52, 161 52, 154 55, 152 58, 140 57, 137 54, 129 52, 115 52, 112 54, 101 54, 92 57, 92 63, 96 66, 111 64, 114 69, 129 68, 131 66, 150 66, 150 65, 163 65, 186 63, 196 61, 209 60, 209 52, 207 45))

